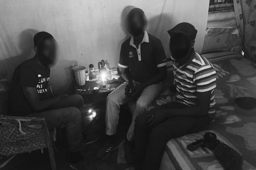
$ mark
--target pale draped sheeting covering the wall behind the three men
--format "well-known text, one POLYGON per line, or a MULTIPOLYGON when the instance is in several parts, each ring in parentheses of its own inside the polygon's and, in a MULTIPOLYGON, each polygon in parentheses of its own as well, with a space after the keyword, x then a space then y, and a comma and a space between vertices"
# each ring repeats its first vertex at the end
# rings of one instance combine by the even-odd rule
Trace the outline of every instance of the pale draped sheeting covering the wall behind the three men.
POLYGON ((51 69, 50 81, 58 93, 73 89, 71 67, 88 67, 105 59, 118 64, 121 43, 129 38, 124 18, 130 9, 143 9, 148 33, 158 37, 168 57, 167 30, 189 22, 198 30, 195 49, 201 52, 207 24, 206 0, 0 0, 0 74, 12 75, 15 67, 34 56, 33 36, 51 33, 60 45, 60 60, 51 69))

